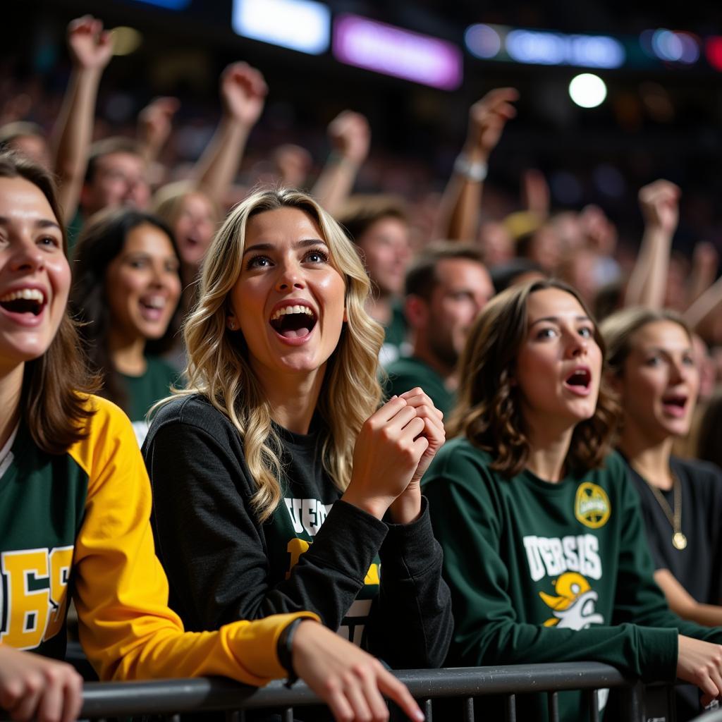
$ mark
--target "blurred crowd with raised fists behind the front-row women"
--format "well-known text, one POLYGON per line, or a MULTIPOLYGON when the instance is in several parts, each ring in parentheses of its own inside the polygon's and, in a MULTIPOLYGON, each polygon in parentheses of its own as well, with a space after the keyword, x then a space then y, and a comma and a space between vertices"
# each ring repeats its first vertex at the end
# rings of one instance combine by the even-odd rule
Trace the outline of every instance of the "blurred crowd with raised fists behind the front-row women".
MULTIPOLYGON (((615 308, 635 303, 664 305, 690 313, 698 334, 697 352, 700 361, 704 360, 703 401, 709 399, 720 380, 722 314, 715 292, 704 295, 718 271, 716 245, 700 239, 691 256, 673 251, 671 245, 684 188, 661 180, 640 188, 645 232, 635 254, 628 244, 620 247, 614 221, 599 206, 555 211, 549 184, 539 170, 523 172, 516 199, 497 191, 493 178, 486 180, 486 170, 483 177, 475 175, 476 168, 469 170, 469 163, 487 168, 507 121, 516 115, 515 91, 492 91, 470 108, 466 143, 459 149, 445 190, 438 193, 434 191, 432 168, 424 158, 417 162, 395 161, 383 154, 370 158, 373 129, 364 116, 353 110, 341 113, 326 129, 331 155, 325 161, 318 161, 321 129, 308 138, 311 149, 280 142, 296 141, 293 134, 290 138, 279 135, 279 144, 266 155, 246 147, 264 110, 268 88, 261 72, 243 63, 229 66, 220 78, 222 116, 215 128, 209 121, 190 126, 174 122, 182 103, 170 97, 154 100, 139 113, 135 123, 126 121, 113 126, 97 120, 95 100, 103 70, 112 57, 110 37, 97 20, 86 17, 71 24, 69 48, 73 70, 62 98, 44 92, 38 83, 21 84, 6 78, 1 142, 6 148, 22 149, 56 173, 72 244, 94 214, 112 207, 154 212, 168 224, 170 242, 178 255, 180 307, 176 313, 178 291, 171 283, 173 288, 163 307, 168 313, 160 313, 162 318, 153 320, 163 327, 163 333, 154 329, 148 336, 146 329, 144 334, 147 339, 154 338, 149 347, 154 357, 159 350, 158 340, 172 336, 160 345, 173 346, 165 359, 178 370, 183 367, 178 327, 193 303, 193 282, 214 230, 225 211, 251 188, 277 184, 311 191, 341 219, 362 249, 377 292, 371 313, 388 327, 384 353, 396 347, 391 349, 391 357, 382 355, 382 362, 399 355, 402 347, 406 353, 402 350, 401 355, 408 355, 411 339, 401 313, 401 299, 404 275, 414 253, 435 240, 461 240, 477 248, 497 291, 516 276, 526 277, 522 271, 529 269, 572 284, 600 320, 615 308), (27 122, 30 118, 32 122, 27 122), (191 162, 193 158, 197 160, 191 162), (103 168, 106 165, 110 167, 103 168), (102 177, 98 178, 96 168, 102 169, 102 177), (373 189, 374 193, 354 196, 356 188, 373 189), (391 195, 387 192, 390 188, 394 191, 391 195), (362 217, 367 219, 359 223, 362 217), (370 250, 365 247, 362 231, 375 219, 382 219, 387 227, 380 224, 375 229, 380 229, 377 235, 382 240, 377 245, 383 248, 370 250), (651 269, 649 282, 643 279, 645 269, 651 269), (396 310, 393 323, 390 300, 396 310)), ((261 126, 254 139, 262 148, 269 148, 272 134, 261 126)), ((131 225, 140 225, 142 220, 137 218, 131 225)), ((108 228, 101 227, 84 235, 95 237, 97 242, 108 232, 108 228)), ((83 245, 84 249, 90 248, 93 242, 83 245)), ((120 248, 117 245, 116 253, 120 248)), ((112 260, 108 256, 104 262, 112 260)), ((79 253, 77 264, 83 270, 78 275, 87 279, 92 273, 95 279, 83 281, 78 291, 85 303, 92 292, 89 284, 101 284, 105 273, 103 266, 90 271, 87 262, 85 253, 79 253)), ((98 292, 96 288, 96 295, 98 292)), ((80 305, 77 310, 84 312, 80 305)), ((101 309, 93 308, 88 313, 96 318, 101 309)), ((107 393, 119 400, 123 392, 113 373, 122 374, 125 368, 129 371, 127 378, 133 378, 144 363, 137 354, 133 361, 132 352, 130 360, 124 357, 118 362, 116 357, 110 362, 105 334, 113 326, 92 323, 87 333, 92 339, 92 355, 102 361, 97 365, 108 375, 107 393)), ((119 342, 116 339, 111 343, 119 342)), ((126 354, 128 349, 126 345, 126 354)), ((165 388, 175 377, 168 367, 161 368, 157 383, 165 388)), ((154 392, 139 389, 136 393, 142 396, 142 409, 147 410, 154 392)), ((123 401, 121 405, 127 410, 133 400, 123 401)), ((134 421, 140 421, 144 412, 139 407, 132 415, 134 421)))

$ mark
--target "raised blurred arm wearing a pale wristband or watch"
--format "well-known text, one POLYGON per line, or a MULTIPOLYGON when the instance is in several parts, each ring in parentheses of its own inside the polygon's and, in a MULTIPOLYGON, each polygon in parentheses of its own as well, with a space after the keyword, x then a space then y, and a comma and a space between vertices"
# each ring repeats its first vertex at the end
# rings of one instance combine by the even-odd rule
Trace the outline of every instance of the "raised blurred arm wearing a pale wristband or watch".
POLYGON ((497 88, 469 108, 466 142, 441 199, 438 238, 476 238, 489 155, 497 146, 507 121, 516 116, 512 103, 518 97, 514 88, 497 88))

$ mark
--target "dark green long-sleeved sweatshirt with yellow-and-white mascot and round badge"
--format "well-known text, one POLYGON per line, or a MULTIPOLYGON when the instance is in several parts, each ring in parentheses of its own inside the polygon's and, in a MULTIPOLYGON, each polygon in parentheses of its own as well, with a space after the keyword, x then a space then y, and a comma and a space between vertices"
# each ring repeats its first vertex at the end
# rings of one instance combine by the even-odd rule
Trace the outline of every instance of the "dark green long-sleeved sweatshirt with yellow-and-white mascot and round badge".
MULTIPOLYGON (((425 476, 456 619, 447 664, 598 661, 671 682, 678 630, 722 641, 721 629, 669 611, 616 453, 557 484, 530 471, 506 479, 491 463, 454 439, 425 476)), ((531 704, 546 718, 541 700, 531 704)), ((581 709, 579 693, 560 695, 562 720, 581 709)))

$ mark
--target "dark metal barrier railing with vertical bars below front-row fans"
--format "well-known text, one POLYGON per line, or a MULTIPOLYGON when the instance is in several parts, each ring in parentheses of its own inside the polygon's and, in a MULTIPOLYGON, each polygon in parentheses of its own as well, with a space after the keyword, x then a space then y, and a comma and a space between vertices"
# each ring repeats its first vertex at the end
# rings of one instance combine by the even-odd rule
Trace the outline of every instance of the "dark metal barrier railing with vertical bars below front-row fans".
MULTIPOLYGON (((567 664, 529 664, 498 667, 462 667, 458 669, 422 669, 397 671, 396 677, 419 700, 428 722, 433 721, 432 700, 457 698, 462 701, 461 720, 474 721, 474 700, 487 695, 505 695, 505 718, 516 722, 519 695, 547 693, 549 719, 558 721, 559 692, 582 690, 586 693, 589 719, 599 719, 598 691, 619 688, 619 722, 646 722, 648 716, 676 722, 674 687, 644 687, 622 675, 614 667, 596 662, 567 664), (648 702, 653 692, 654 712, 648 702)), ((87 682, 84 686, 84 718, 127 715, 165 715, 171 721, 182 713, 226 711, 226 718, 242 722, 244 710, 266 709, 281 713, 284 722, 293 720, 293 709, 319 704, 320 700, 305 684, 297 682, 287 689, 281 682, 261 689, 246 687, 226 679, 170 679, 152 682, 87 682)), ((438 721, 439 722, 439 721, 438 721)), ((443 722, 447 722, 446 718, 443 722)))

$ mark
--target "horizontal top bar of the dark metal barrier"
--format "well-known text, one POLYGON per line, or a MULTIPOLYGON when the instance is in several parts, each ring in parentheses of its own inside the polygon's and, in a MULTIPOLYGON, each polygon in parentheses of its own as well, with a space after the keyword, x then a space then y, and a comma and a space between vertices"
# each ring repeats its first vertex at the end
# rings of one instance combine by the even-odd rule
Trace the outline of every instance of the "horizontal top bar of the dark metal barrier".
MULTIPOLYGON (((417 699, 479 697, 557 690, 628 687, 634 679, 596 662, 516 664, 499 667, 461 667, 397 671, 417 699)), ((282 682, 261 689, 227 679, 168 679, 149 682, 88 682, 84 686, 83 716, 120 716, 201 710, 258 709, 318 703, 305 684, 290 690, 282 682)))

